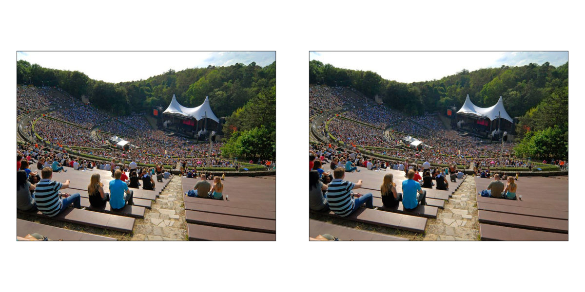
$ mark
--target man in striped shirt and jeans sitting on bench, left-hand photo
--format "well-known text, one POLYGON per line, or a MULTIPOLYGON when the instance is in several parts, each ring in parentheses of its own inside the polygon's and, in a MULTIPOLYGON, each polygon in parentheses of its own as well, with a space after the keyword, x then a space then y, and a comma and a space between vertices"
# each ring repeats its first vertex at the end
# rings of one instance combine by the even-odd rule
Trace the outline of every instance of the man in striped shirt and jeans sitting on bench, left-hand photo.
POLYGON ((59 190, 69 187, 68 179, 64 183, 51 180, 53 178, 53 169, 50 167, 43 168, 41 176, 43 179, 37 183, 35 189, 35 203, 39 211, 49 217, 54 217, 65 210, 71 203, 75 208, 81 208, 79 193, 59 193, 59 190))

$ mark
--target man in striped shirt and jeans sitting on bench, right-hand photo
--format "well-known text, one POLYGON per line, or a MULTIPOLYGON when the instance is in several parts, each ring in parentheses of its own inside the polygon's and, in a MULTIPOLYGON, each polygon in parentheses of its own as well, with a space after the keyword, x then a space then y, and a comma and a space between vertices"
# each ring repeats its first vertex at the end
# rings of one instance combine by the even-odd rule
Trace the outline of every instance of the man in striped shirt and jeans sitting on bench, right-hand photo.
POLYGON ((368 194, 352 194, 353 189, 362 187, 362 180, 357 183, 343 180, 345 178, 345 169, 338 167, 333 171, 333 179, 327 187, 326 199, 329 209, 341 217, 346 217, 352 214, 364 203, 366 207, 373 208, 373 199, 371 193, 368 194))

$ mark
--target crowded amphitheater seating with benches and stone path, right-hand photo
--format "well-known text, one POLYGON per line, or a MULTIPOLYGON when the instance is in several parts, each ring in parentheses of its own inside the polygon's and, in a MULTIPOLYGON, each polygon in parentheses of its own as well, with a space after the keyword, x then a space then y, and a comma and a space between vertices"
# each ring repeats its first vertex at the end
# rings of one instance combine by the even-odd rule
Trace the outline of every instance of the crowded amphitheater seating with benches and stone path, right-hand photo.
POLYGON ((331 171, 334 157, 351 155, 352 159, 362 157, 364 163, 372 162, 373 170, 356 163, 359 172, 346 172, 345 180, 363 180, 362 188, 353 192, 371 193, 374 208, 361 207, 347 217, 310 210, 309 237, 330 234, 339 240, 355 241, 567 241, 567 169, 522 161, 508 153, 512 147, 511 142, 505 143, 505 154, 500 155, 500 143, 456 133, 439 114, 408 117, 352 88, 311 86, 309 150, 323 160, 325 172, 331 171), (425 151, 404 147, 401 139, 407 135, 428 141, 433 147, 425 151), (465 175, 450 182, 448 190, 425 189, 426 206, 404 210, 400 203, 388 208, 382 203, 380 185, 386 173, 393 173, 397 192, 401 192, 401 182, 407 178, 404 171, 391 166, 405 159, 418 168, 425 161, 436 169, 455 164, 465 175), (481 178, 478 168, 518 173, 521 200, 481 197, 479 193, 493 179, 481 178))

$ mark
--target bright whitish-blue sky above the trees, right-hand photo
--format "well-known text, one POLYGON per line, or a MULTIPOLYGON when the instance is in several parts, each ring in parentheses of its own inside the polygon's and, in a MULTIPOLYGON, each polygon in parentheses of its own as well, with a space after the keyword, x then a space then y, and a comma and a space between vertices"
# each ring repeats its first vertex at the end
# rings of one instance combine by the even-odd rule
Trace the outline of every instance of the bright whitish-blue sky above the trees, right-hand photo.
POLYGON ((558 66, 569 58, 567 51, 507 52, 311 52, 310 60, 335 67, 373 71, 384 79, 417 82, 441 79, 462 69, 474 71, 501 65, 522 66, 533 62, 558 66))

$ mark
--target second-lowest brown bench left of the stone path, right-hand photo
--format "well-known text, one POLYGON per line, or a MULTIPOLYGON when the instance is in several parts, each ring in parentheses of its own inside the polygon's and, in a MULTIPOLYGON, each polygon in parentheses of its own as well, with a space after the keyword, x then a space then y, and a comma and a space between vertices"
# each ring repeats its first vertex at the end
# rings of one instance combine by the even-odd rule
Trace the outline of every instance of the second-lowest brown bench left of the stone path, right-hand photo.
POLYGON ((333 211, 313 211, 312 213, 328 215, 330 217, 342 218, 349 221, 357 221, 382 227, 396 228, 400 230, 408 230, 412 232, 425 232, 426 218, 411 215, 397 214, 380 210, 373 210, 369 208, 359 208, 355 212, 346 217, 341 217, 333 211))

